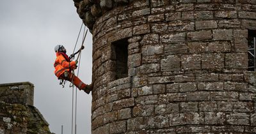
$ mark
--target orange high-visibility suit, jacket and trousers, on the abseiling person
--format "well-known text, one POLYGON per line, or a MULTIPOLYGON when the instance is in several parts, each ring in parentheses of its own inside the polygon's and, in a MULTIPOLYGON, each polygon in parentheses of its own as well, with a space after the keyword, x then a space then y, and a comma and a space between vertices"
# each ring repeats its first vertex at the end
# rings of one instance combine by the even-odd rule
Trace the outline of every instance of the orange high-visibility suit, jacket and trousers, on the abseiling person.
POLYGON ((54 68, 54 74, 56 75, 56 77, 72 82, 79 90, 86 87, 86 84, 84 84, 78 77, 76 77, 76 75, 72 74, 71 71, 76 69, 76 61, 70 61, 67 54, 63 52, 56 52, 54 68), (68 72, 67 77, 65 77, 64 75, 65 71, 68 72))

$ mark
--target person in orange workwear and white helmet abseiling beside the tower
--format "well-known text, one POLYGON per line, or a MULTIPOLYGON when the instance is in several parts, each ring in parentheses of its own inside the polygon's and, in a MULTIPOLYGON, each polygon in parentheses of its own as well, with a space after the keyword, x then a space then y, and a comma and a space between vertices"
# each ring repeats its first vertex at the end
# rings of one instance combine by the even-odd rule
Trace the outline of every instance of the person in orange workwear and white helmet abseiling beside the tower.
POLYGON ((66 54, 66 49, 63 45, 56 45, 54 48, 56 52, 56 60, 54 62, 54 74, 58 79, 68 80, 72 82, 79 90, 83 90, 85 93, 89 94, 92 91, 92 84, 84 84, 76 75, 71 71, 76 70, 77 61, 71 61, 70 57, 66 54))

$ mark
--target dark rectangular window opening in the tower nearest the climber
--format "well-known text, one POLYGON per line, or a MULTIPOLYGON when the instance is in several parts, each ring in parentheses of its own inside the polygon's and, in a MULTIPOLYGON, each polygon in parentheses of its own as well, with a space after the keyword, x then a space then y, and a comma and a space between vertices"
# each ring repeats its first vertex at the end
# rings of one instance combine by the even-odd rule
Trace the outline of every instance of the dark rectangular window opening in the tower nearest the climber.
POLYGON ((128 77, 128 41, 127 39, 118 40, 112 43, 113 61, 115 61, 115 77, 128 77))

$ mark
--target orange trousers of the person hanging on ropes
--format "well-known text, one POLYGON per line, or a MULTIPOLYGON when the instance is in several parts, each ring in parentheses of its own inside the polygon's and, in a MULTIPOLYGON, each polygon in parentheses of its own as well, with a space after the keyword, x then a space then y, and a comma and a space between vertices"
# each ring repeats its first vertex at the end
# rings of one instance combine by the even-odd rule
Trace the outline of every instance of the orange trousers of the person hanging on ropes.
POLYGON ((71 71, 68 71, 68 77, 64 76, 64 73, 60 76, 63 80, 68 80, 72 84, 74 84, 79 90, 84 89, 86 87, 86 84, 82 82, 76 75, 74 75, 71 71))

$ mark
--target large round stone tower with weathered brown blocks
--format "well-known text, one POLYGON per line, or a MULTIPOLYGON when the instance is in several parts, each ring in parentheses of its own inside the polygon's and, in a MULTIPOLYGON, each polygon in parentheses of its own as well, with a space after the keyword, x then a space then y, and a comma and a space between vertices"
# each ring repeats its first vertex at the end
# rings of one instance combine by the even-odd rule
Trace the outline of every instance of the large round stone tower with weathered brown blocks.
POLYGON ((74 3, 93 34, 93 134, 256 133, 255 0, 74 3))

